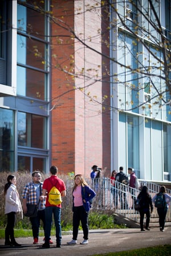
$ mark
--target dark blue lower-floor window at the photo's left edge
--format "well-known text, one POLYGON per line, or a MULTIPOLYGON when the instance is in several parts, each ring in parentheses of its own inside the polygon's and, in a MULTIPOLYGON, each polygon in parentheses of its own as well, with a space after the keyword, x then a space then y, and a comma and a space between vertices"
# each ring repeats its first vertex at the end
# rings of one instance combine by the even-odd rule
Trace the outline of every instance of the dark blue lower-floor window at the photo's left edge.
POLYGON ((14 172, 14 113, 0 108, 0 169, 14 172))

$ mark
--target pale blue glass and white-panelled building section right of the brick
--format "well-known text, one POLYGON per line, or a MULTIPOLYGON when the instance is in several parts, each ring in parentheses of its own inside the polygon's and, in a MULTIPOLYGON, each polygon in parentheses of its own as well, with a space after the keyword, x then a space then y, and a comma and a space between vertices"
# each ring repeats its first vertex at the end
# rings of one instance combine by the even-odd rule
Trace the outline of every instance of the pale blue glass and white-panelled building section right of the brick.
POLYGON ((170 1, 111 2, 116 46, 111 54, 119 63, 111 63, 117 73, 117 82, 111 80, 112 104, 118 109, 111 113, 113 169, 122 163, 133 166, 141 179, 171 181, 170 71, 164 74, 170 1))

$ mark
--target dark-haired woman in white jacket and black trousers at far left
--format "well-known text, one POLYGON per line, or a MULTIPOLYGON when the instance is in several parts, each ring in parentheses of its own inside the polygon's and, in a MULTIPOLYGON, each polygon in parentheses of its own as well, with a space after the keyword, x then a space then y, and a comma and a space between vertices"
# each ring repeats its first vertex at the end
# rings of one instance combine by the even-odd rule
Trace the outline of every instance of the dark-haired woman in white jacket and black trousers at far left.
POLYGON ((4 187, 5 195, 5 214, 7 214, 7 225, 5 229, 5 245, 21 246, 14 238, 14 225, 16 221, 16 212, 22 213, 22 205, 19 200, 19 194, 16 189, 16 177, 9 175, 4 187))

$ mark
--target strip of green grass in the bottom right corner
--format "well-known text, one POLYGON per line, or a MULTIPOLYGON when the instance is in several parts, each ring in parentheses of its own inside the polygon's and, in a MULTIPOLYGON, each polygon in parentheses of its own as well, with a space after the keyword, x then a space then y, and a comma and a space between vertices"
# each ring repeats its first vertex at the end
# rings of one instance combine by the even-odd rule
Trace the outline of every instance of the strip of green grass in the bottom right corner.
POLYGON ((93 256, 170 256, 171 245, 147 247, 143 249, 119 251, 118 253, 95 254, 93 256))

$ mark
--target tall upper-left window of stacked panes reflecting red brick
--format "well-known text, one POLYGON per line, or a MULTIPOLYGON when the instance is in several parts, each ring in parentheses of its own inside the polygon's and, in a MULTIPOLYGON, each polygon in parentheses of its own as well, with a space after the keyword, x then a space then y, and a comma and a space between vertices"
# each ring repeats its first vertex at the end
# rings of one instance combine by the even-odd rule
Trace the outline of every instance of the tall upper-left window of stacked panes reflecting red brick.
POLYGON ((17 94, 47 100, 46 1, 17 5, 17 94), (38 22, 39 21, 39 22, 38 22))

